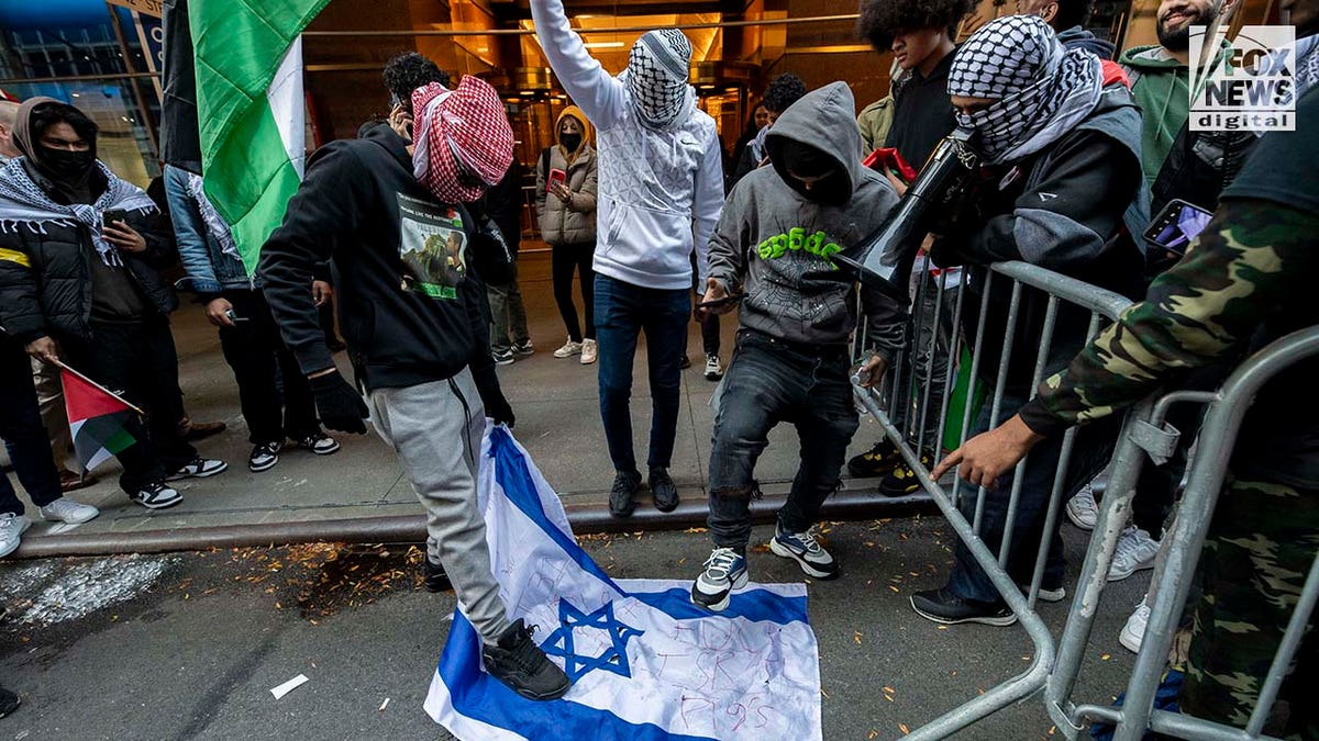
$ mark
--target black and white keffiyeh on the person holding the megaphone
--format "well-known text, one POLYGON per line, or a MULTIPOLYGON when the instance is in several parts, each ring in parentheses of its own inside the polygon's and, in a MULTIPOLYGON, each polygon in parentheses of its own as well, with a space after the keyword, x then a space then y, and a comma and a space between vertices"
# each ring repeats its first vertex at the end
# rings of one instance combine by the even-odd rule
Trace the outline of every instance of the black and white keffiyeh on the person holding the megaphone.
POLYGON ((1084 120, 1099 104, 1099 57, 1067 51, 1038 16, 1005 16, 980 28, 958 50, 948 95, 996 103, 958 124, 980 133, 987 163, 1034 154, 1084 120))

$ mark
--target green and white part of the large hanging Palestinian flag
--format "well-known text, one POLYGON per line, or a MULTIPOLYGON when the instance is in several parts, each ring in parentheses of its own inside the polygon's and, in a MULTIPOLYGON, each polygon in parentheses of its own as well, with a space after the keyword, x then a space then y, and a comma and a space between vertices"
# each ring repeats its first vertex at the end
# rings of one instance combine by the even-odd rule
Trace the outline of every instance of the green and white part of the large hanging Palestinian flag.
POLYGON ((190 0, 206 195, 255 272, 302 182, 299 34, 328 0, 190 0))

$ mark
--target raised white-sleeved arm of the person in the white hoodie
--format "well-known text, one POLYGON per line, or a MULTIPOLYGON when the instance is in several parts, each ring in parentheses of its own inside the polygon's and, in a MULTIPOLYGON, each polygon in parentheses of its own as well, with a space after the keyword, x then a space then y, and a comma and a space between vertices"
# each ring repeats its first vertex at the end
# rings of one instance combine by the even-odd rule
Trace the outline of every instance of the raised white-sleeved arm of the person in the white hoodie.
POLYGON ((572 30, 561 0, 532 0, 532 20, 541 50, 572 103, 598 129, 608 129, 623 117, 623 83, 604 71, 572 30))

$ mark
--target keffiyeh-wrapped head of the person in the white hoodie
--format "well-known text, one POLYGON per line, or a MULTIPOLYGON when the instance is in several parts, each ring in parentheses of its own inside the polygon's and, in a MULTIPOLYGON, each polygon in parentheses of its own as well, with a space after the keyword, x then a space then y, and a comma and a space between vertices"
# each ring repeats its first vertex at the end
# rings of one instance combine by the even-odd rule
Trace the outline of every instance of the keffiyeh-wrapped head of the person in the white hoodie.
POLYGON ((666 128, 691 112, 690 67, 691 42, 675 28, 646 32, 632 45, 621 78, 642 124, 666 128))

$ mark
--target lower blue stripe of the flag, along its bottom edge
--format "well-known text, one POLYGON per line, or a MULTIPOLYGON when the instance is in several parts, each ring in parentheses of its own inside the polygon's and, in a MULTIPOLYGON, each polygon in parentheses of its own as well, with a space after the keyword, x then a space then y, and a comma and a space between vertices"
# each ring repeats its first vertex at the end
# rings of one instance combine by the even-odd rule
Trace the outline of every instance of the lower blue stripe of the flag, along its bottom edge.
POLYGON ((480 645, 472 624, 455 612, 438 671, 459 715, 496 728, 516 729, 526 738, 714 741, 704 736, 669 733, 652 723, 629 723, 609 711, 568 700, 528 700, 479 668, 480 645))

